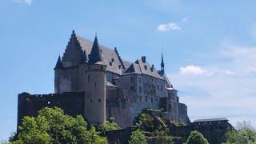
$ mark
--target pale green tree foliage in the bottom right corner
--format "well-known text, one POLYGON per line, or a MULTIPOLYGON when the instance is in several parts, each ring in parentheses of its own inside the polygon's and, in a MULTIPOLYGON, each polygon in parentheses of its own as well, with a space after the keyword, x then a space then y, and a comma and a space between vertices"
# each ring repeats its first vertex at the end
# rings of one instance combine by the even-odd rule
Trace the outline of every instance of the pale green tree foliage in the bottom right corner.
POLYGON ((250 122, 238 122, 237 130, 226 133, 226 144, 253 144, 256 143, 256 130, 250 122))

